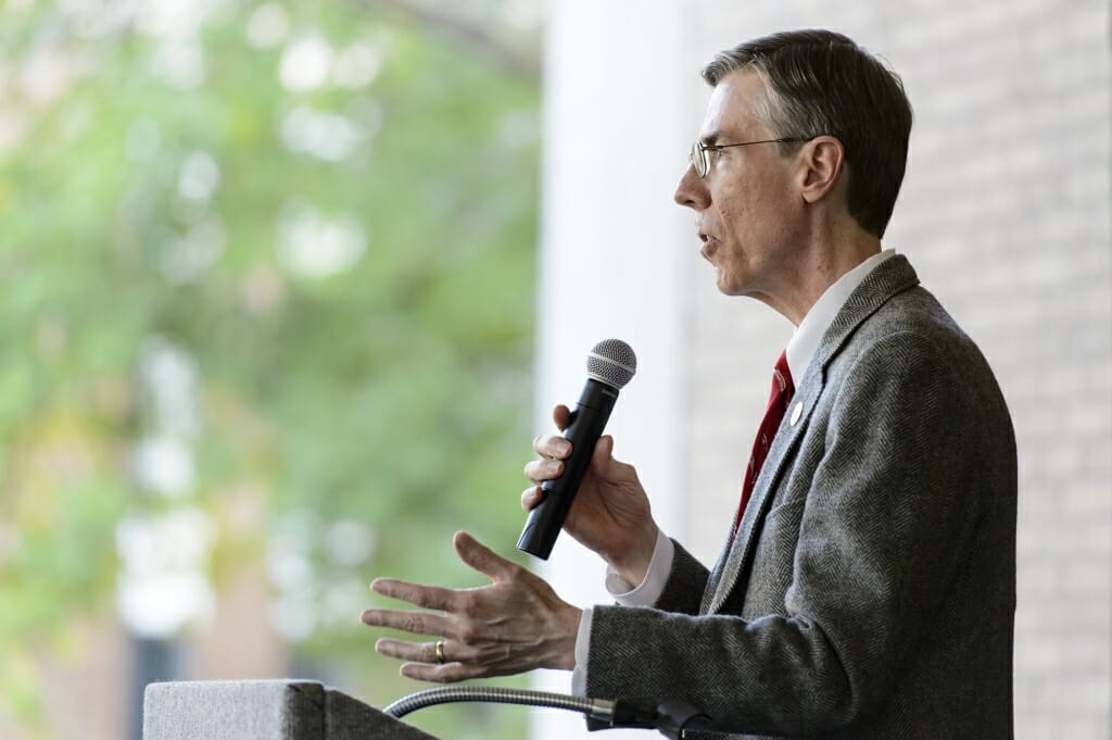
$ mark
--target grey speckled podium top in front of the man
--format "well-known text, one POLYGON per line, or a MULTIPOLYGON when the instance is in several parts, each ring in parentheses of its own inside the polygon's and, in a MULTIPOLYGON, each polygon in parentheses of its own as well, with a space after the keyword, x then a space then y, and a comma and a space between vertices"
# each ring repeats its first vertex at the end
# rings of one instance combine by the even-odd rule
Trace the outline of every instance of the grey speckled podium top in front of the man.
POLYGON ((143 740, 437 740, 316 681, 173 681, 143 695, 143 740))

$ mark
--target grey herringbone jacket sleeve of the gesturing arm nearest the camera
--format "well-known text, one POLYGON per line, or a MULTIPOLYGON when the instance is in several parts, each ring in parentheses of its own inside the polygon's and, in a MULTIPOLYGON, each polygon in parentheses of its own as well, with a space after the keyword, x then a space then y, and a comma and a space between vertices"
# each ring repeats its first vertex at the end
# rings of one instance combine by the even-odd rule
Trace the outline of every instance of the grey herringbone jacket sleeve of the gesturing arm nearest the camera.
POLYGON ((677 549, 661 609, 596 608, 588 695, 683 699, 759 734, 844 729, 883 706, 973 546, 985 420, 953 346, 892 334, 850 364, 807 431, 814 470, 803 484, 791 471, 801 492, 777 506, 802 510, 782 609, 693 615, 706 573, 677 549))

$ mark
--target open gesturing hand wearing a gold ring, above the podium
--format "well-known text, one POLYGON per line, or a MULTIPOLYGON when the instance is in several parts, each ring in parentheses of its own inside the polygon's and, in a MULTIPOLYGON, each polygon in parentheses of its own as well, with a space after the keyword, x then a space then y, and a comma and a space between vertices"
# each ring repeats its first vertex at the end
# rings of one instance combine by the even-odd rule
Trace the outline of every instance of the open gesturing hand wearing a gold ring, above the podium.
POLYGON ((370 584, 376 593, 433 611, 367 609, 360 618, 364 624, 444 640, 381 638, 375 650, 406 661, 401 675, 445 683, 534 668, 575 668, 575 640, 583 612, 560 600, 544 580, 469 534, 457 532, 453 543, 459 559, 490 576, 492 583, 445 589, 376 579, 370 584), (439 652, 437 642, 443 643, 439 652))

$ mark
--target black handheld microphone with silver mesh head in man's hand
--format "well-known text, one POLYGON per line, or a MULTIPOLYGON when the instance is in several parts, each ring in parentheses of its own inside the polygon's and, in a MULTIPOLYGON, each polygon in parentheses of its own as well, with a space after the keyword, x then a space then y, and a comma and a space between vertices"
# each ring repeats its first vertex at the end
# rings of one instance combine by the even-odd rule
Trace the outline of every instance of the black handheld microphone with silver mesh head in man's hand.
POLYGON ((595 443, 610 417, 618 391, 636 372, 637 356, 620 339, 603 339, 587 355, 587 383, 572 412, 570 423, 564 430, 564 438, 572 443, 572 454, 564 460, 563 475, 545 481, 540 486, 544 499, 529 512, 522 539, 517 541, 517 549, 522 552, 548 560, 579 490, 583 474, 590 464, 595 443))

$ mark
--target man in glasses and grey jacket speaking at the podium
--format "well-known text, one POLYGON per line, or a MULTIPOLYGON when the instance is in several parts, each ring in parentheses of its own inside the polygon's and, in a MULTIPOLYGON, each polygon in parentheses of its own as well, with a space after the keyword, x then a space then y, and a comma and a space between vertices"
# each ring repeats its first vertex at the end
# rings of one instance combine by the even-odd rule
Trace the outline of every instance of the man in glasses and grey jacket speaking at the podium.
MULTIPOLYGON (((902 85, 827 31, 743 43, 703 76, 675 199, 718 289, 796 325, 718 563, 661 534, 603 437, 565 529, 620 605, 580 612, 460 533, 490 586, 378 580, 443 613, 363 619, 443 637, 377 643, 424 680, 574 668, 589 697, 682 699, 737 737, 1011 738, 1014 435, 981 353, 881 248, 911 130, 902 85)), ((526 507, 568 454, 556 435, 534 447, 526 507)))

